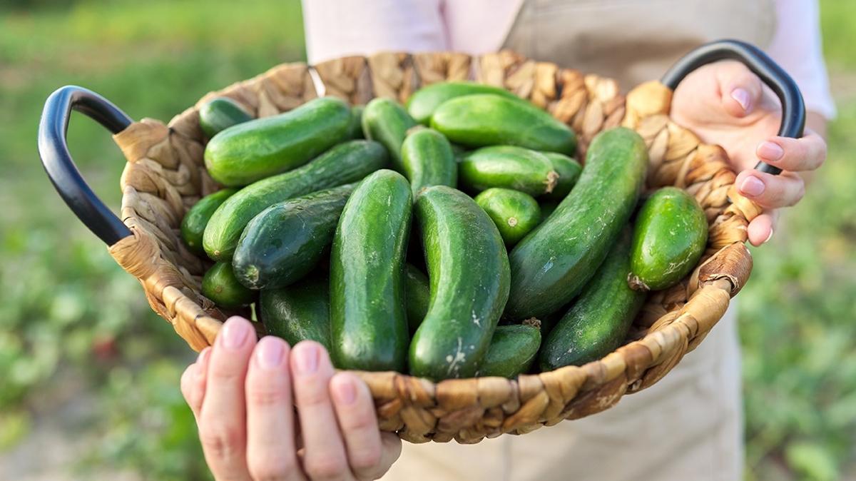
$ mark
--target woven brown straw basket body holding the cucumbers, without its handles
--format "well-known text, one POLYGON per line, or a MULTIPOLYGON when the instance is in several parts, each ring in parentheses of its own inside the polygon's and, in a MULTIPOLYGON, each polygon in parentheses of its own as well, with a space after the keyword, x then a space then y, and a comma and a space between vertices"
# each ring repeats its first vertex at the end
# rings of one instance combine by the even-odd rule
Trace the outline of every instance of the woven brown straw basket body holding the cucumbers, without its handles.
POLYGON ((232 312, 221 312, 199 294, 210 263, 188 252, 179 235, 187 209, 217 190, 203 162, 199 104, 224 95, 256 116, 272 116, 316 97, 315 84, 323 85, 327 95, 365 104, 379 96, 403 101, 419 86, 465 79, 502 86, 568 123, 580 137, 579 158, 603 129, 634 128, 651 155, 647 187, 674 185, 692 193, 707 213, 710 240, 693 274, 674 288, 651 294, 627 343, 599 361, 514 380, 431 383, 396 372, 359 372, 372 390, 381 429, 397 431, 410 442, 479 442, 485 436, 523 434, 582 418, 656 383, 698 346, 743 287, 752 270, 746 225, 760 213, 758 205, 734 190, 725 151, 701 143, 669 120, 671 91, 656 81, 625 97, 615 80, 511 51, 479 57, 381 53, 313 67, 284 64, 211 92, 168 125, 143 119, 114 136, 128 158, 121 181, 122 219, 133 235, 110 246, 110 254, 140 280, 152 309, 190 347, 209 346, 232 312))

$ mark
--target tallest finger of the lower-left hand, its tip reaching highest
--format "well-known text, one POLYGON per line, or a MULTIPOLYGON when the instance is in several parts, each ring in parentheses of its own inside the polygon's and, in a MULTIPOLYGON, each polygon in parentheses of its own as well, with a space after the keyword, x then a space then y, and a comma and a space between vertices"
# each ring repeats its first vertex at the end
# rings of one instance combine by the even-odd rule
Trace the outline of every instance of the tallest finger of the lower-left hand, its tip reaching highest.
POLYGON ((199 439, 217 479, 250 478, 244 378, 255 341, 255 330, 247 319, 229 318, 211 350, 199 412, 199 439))

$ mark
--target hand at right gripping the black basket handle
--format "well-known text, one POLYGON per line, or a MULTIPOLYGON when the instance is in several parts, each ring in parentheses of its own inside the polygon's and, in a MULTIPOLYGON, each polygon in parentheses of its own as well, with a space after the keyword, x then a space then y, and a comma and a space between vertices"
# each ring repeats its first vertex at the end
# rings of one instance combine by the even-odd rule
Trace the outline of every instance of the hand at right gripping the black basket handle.
POLYGON ((722 145, 738 172, 738 191, 764 207, 749 224, 753 246, 773 235, 776 209, 802 199, 805 181, 800 174, 826 159, 826 142, 808 128, 801 139, 776 136, 782 119, 778 99, 740 62, 711 63, 688 74, 675 89, 671 113, 704 142, 722 145), (759 160, 782 169, 782 174, 754 170, 759 160))

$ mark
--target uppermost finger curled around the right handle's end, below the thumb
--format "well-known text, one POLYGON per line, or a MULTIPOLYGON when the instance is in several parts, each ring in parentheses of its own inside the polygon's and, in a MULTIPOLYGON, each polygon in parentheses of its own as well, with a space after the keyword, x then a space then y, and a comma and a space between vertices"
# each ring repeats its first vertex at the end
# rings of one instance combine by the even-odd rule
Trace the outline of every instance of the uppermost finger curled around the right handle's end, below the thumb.
POLYGON ((758 158, 782 170, 815 170, 826 160, 826 140, 811 130, 801 139, 773 137, 758 145, 758 158))

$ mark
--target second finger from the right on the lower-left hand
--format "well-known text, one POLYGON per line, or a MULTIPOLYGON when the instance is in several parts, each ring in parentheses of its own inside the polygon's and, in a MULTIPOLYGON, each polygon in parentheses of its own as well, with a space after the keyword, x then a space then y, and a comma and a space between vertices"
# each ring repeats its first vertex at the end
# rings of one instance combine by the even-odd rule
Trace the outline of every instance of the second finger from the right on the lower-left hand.
POLYGON ((303 471, 313 480, 352 478, 336 423, 329 384, 333 365, 323 346, 301 341, 291 350, 294 401, 306 452, 303 471))

